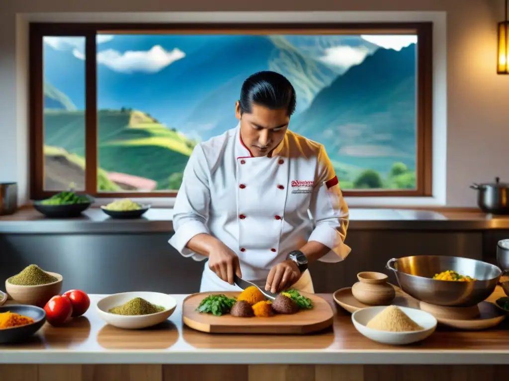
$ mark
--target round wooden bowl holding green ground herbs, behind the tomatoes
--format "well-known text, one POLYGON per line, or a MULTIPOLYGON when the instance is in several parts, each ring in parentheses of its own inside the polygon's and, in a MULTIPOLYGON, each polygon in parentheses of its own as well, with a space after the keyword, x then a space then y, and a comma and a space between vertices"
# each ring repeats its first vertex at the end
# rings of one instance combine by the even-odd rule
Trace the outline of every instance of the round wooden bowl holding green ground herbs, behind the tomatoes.
POLYGON ((5 281, 5 289, 9 297, 19 304, 29 304, 44 307, 49 299, 62 292, 62 281, 64 277, 55 272, 46 271, 56 278, 56 281, 47 284, 23 286, 5 281))

